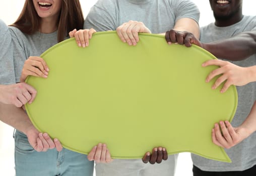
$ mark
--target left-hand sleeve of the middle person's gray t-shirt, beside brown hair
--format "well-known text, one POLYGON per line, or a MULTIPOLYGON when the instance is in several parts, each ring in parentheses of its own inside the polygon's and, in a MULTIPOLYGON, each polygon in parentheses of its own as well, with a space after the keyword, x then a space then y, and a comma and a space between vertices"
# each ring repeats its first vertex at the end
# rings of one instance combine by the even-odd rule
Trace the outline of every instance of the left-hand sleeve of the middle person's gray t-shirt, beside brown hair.
POLYGON ((90 10, 84 22, 84 29, 93 28, 97 32, 114 31, 116 26, 116 13, 110 1, 98 1, 90 10), (104 2, 105 1, 105 2, 104 2), (112 5, 112 6, 111 6, 112 5))

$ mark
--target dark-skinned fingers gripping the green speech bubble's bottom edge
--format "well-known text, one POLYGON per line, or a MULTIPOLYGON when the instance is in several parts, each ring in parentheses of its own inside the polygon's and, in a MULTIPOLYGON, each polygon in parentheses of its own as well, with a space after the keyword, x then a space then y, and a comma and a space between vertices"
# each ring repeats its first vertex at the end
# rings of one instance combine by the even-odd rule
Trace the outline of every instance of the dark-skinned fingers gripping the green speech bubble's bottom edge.
POLYGON ((142 161, 144 163, 150 162, 151 164, 161 163, 162 160, 167 160, 168 154, 165 148, 163 147, 155 147, 152 150, 152 154, 148 151, 145 153, 142 161))

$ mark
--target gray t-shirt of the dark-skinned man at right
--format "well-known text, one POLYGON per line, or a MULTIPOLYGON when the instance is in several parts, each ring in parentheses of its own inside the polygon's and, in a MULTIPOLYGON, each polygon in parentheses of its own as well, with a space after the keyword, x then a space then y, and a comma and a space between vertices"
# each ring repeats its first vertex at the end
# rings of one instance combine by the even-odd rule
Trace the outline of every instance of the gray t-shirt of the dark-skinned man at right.
MULTIPOLYGON (((240 32, 254 30, 256 30, 256 17, 244 16, 240 22, 232 26, 217 27, 212 23, 201 28, 201 41, 208 43, 230 38, 240 32)), ((231 62, 242 67, 256 65, 256 55, 254 54, 245 60, 231 62)), ((250 109, 255 101, 256 83, 252 82, 244 86, 237 86, 237 93, 238 106, 233 121, 231 122, 234 127, 241 125, 250 113, 250 109)), ((256 133, 252 133, 241 143, 230 149, 225 149, 225 151, 232 160, 232 163, 214 161, 195 154, 191 154, 191 156, 194 165, 206 171, 238 171, 248 169, 256 165, 256 133)))

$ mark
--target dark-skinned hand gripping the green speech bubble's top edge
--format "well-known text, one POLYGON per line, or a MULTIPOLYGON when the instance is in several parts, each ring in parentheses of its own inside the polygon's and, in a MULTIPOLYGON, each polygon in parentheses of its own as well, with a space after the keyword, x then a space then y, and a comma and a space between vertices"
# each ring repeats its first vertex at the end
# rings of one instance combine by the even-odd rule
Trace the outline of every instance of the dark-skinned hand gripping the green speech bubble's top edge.
POLYGON ((191 44, 202 47, 202 43, 190 32, 169 30, 165 33, 165 40, 168 44, 178 43, 190 47, 191 44))

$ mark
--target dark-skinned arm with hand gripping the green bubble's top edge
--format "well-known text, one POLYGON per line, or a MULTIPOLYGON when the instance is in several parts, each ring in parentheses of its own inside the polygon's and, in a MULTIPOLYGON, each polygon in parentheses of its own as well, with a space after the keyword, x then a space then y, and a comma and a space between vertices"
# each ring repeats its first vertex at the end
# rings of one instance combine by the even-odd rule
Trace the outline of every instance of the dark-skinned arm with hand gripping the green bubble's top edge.
POLYGON ((201 43, 197 37, 189 32, 170 30, 165 33, 165 39, 167 43, 178 43, 186 47, 196 44, 217 58, 232 61, 243 60, 256 53, 256 31, 242 32, 228 39, 201 43))

